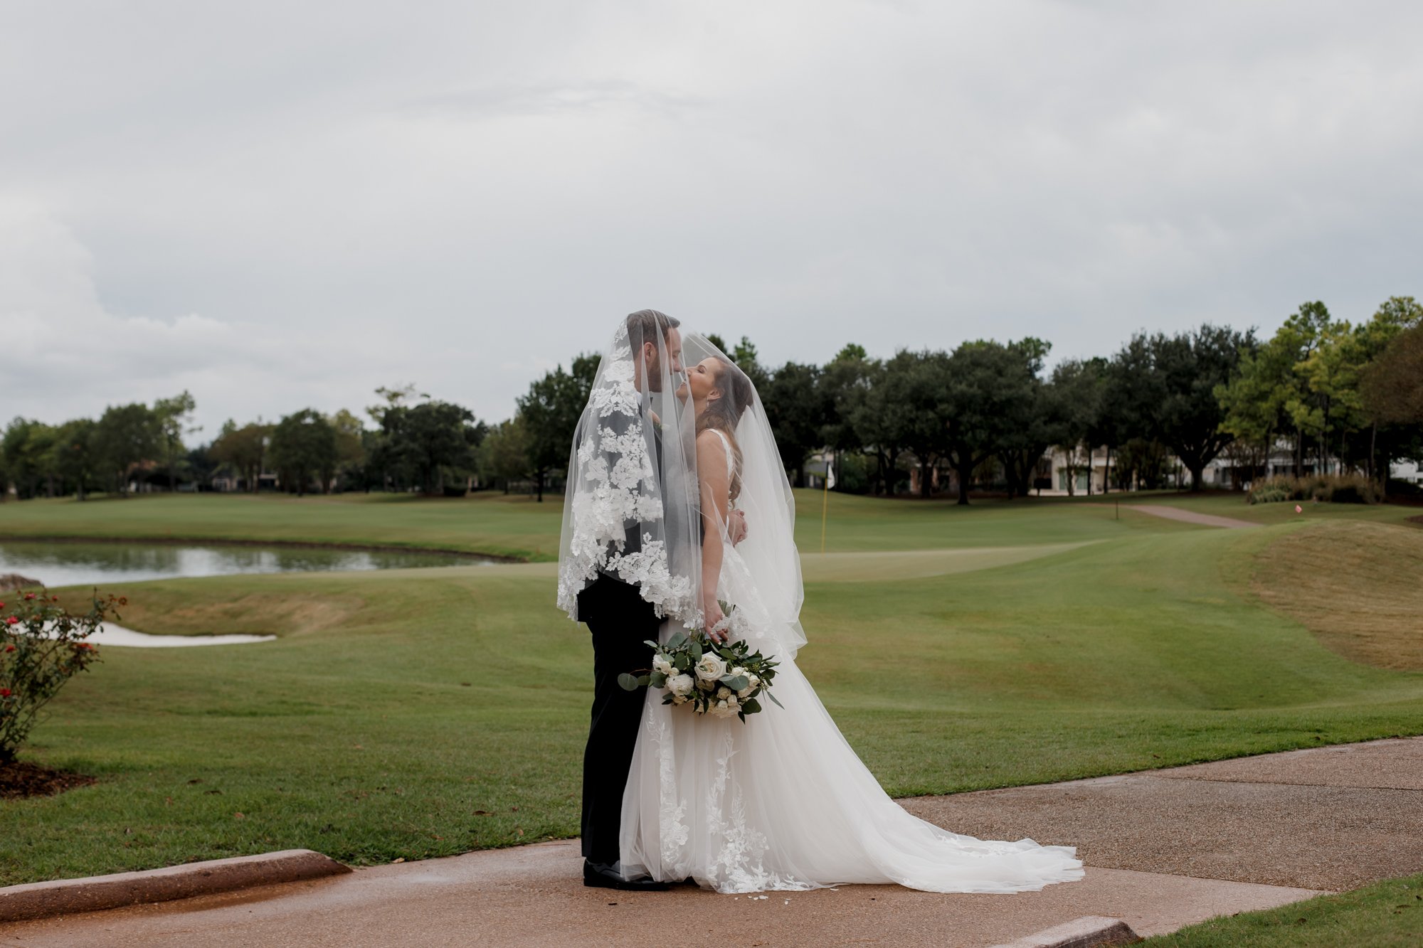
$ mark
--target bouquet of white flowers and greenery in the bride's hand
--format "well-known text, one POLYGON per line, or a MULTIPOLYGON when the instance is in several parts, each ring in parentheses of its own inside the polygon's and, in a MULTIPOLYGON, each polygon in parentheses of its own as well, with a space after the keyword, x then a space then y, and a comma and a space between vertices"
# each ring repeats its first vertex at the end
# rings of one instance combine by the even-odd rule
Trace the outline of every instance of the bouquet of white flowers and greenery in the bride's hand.
MULTIPOLYGON (((723 606, 724 608, 724 606, 723 606)), ((727 616, 731 609, 726 608, 727 616)), ((663 643, 647 641, 656 652, 652 668, 642 675, 622 673, 618 683, 629 692, 643 685, 660 688, 663 705, 692 705, 699 715, 731 717, 743 722, 747 715, 761 710, 760 696, 770 697, 776 662, 760 652, 751 652, 744 642, 717 643, 702 632, 677 632, 663 643)))

